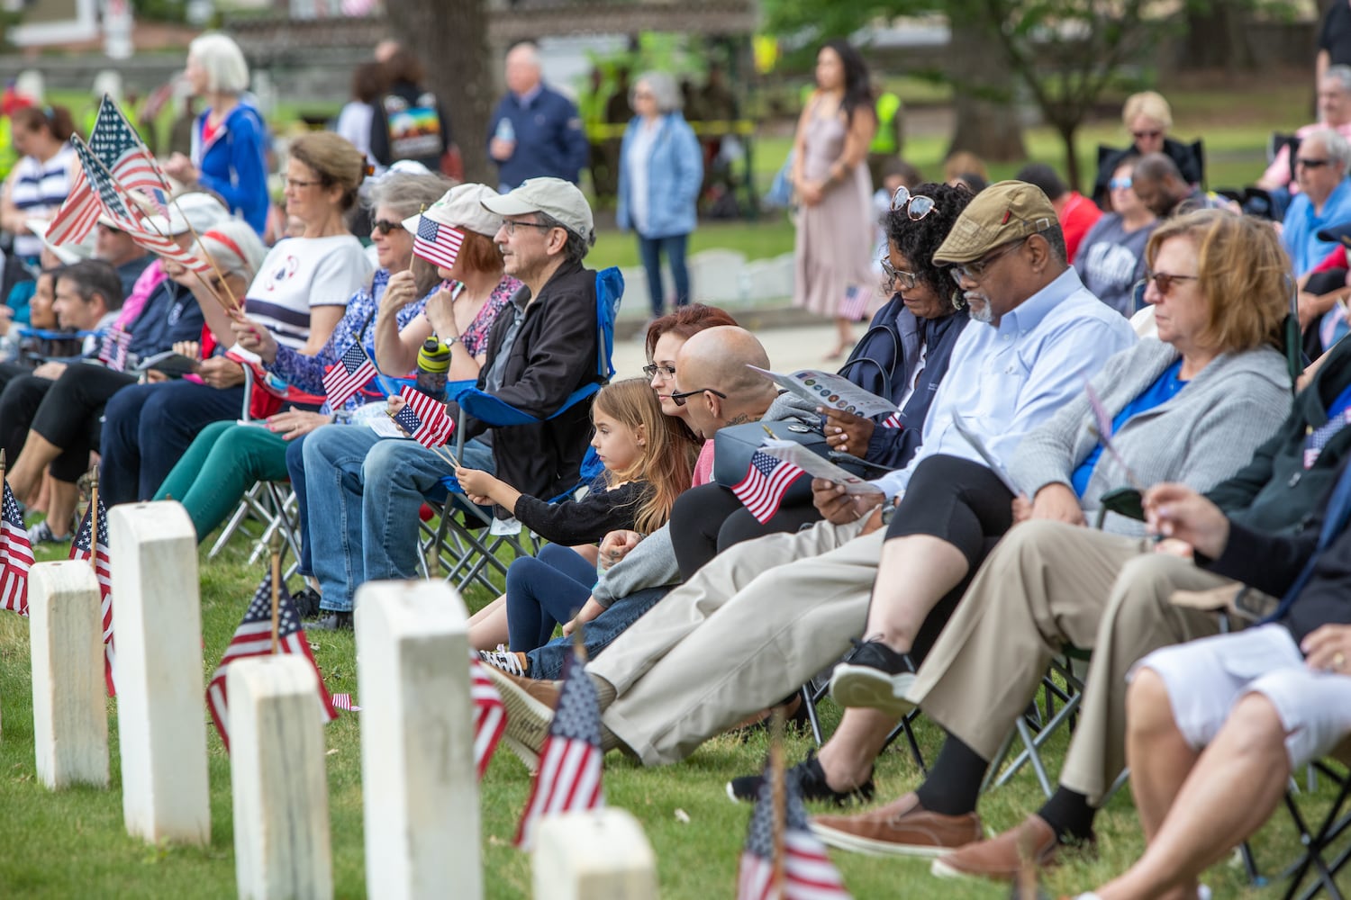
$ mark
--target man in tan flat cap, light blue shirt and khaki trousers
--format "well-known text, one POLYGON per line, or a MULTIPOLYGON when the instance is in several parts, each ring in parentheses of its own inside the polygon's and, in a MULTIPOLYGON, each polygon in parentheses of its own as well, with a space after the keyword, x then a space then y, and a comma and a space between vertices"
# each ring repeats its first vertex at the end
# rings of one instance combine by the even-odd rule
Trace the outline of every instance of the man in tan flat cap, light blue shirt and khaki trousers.
MULTIPOLYGON (((981 192, 935 260, 948 244, 965 251, 951 259, 975 275, 962 286, 971 317, 985 325, 970 325, 958 340, 909 466, 863 497, 817 482, 827 521, 728 548, 588 667, 603 702, 615 696, 603 718, 609 739, 644 764, 674 762, 780 702, 859 636, 874 580, 882 590, 920 576, 888 571, 882 501, 904 490, 934 453, 979 459, 957 434, 954 414, 1002 459, 1078 394, 1108 356, 1135 341, 1120 313, 1069 267, 1055 210, 1040 189, 1001 182, 981 192)), ((512 708, 534 704, 547 725, 539 681, 531 696, 493 675, 512 695, 512 708)), ((544 729, 530 718, 508 716, 508 733, 523 741, 542 737, 544 729)))

